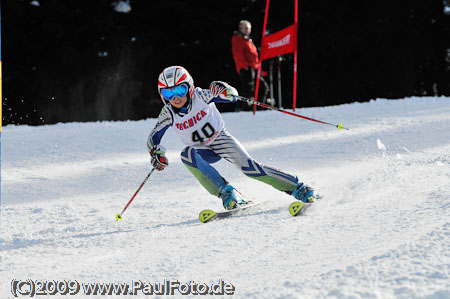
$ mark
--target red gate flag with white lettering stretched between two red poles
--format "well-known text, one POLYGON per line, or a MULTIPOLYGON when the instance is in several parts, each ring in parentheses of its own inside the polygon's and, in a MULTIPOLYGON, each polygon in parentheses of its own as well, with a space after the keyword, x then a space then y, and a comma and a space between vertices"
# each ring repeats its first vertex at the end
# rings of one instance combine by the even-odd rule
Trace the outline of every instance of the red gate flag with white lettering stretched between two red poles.
POLYGON ((293 24, 264 36, 261 42, 261 61, 297 51, 297 26, 293 24))

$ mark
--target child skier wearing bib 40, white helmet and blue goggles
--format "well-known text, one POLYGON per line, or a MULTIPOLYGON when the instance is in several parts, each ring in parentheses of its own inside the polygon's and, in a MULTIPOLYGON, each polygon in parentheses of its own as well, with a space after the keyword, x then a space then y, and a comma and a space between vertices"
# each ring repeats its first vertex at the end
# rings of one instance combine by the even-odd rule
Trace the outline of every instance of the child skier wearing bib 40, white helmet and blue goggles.
POLYGON ((171 66, 159 75, 158 92, 165 105, 147 140, 151 163, 157 170, 169 165, 160 142, 166 130, 173 127, 187 145, 181 152, 181 161, 209 193, 222 199, 225 209, 234 209, 246 200, 211 166, 222 158, 253 179, 303 202, 314 201, 311 187, 299 182, 295 175, 255 161, 226 130, 215 103, 236 102, 235 88, 221 81, 213 81, 209 90, 194 88, 194 80, 186 69, 171 66))

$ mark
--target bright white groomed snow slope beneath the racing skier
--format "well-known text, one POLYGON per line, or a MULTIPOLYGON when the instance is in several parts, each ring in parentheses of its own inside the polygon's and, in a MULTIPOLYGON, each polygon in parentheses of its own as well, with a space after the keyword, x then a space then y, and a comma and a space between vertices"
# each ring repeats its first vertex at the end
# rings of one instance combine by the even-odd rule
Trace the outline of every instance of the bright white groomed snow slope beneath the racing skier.
POLYGON ((182 165, 171 130, 170 166, 115 221, 150 169, 155 119, 4 127, 0 297, 13 279, 169 279, 223 280, 237 298, 450 298, 450 98, 296 112, 351 130, 275 111, 223 116, 252 156, 325 198, 293 218, 289 195, 221 161, 241 193, 270 201, 208 224, 198 213, 221 202, 182 165))

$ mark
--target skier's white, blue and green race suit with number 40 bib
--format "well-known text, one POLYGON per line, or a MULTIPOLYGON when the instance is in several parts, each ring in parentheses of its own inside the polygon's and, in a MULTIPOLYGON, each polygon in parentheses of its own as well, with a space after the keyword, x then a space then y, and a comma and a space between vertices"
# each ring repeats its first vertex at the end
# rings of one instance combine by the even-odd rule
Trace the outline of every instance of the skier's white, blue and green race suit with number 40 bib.
POLYGON ((225 128, 225 123, 215 103, 230 103, 235 99, 213 97, 209 90, 196 88, 187 111, 175 112, 167 103, 151 131, 147 147, 158 145, 164 133, 172 127, 187 145, 181 160, 209 193, 219 196, 228 184, 211 164, 226 159, 254 179, 291 194, 299 183, 297 176, 266 166, 253 159, 225 128))

